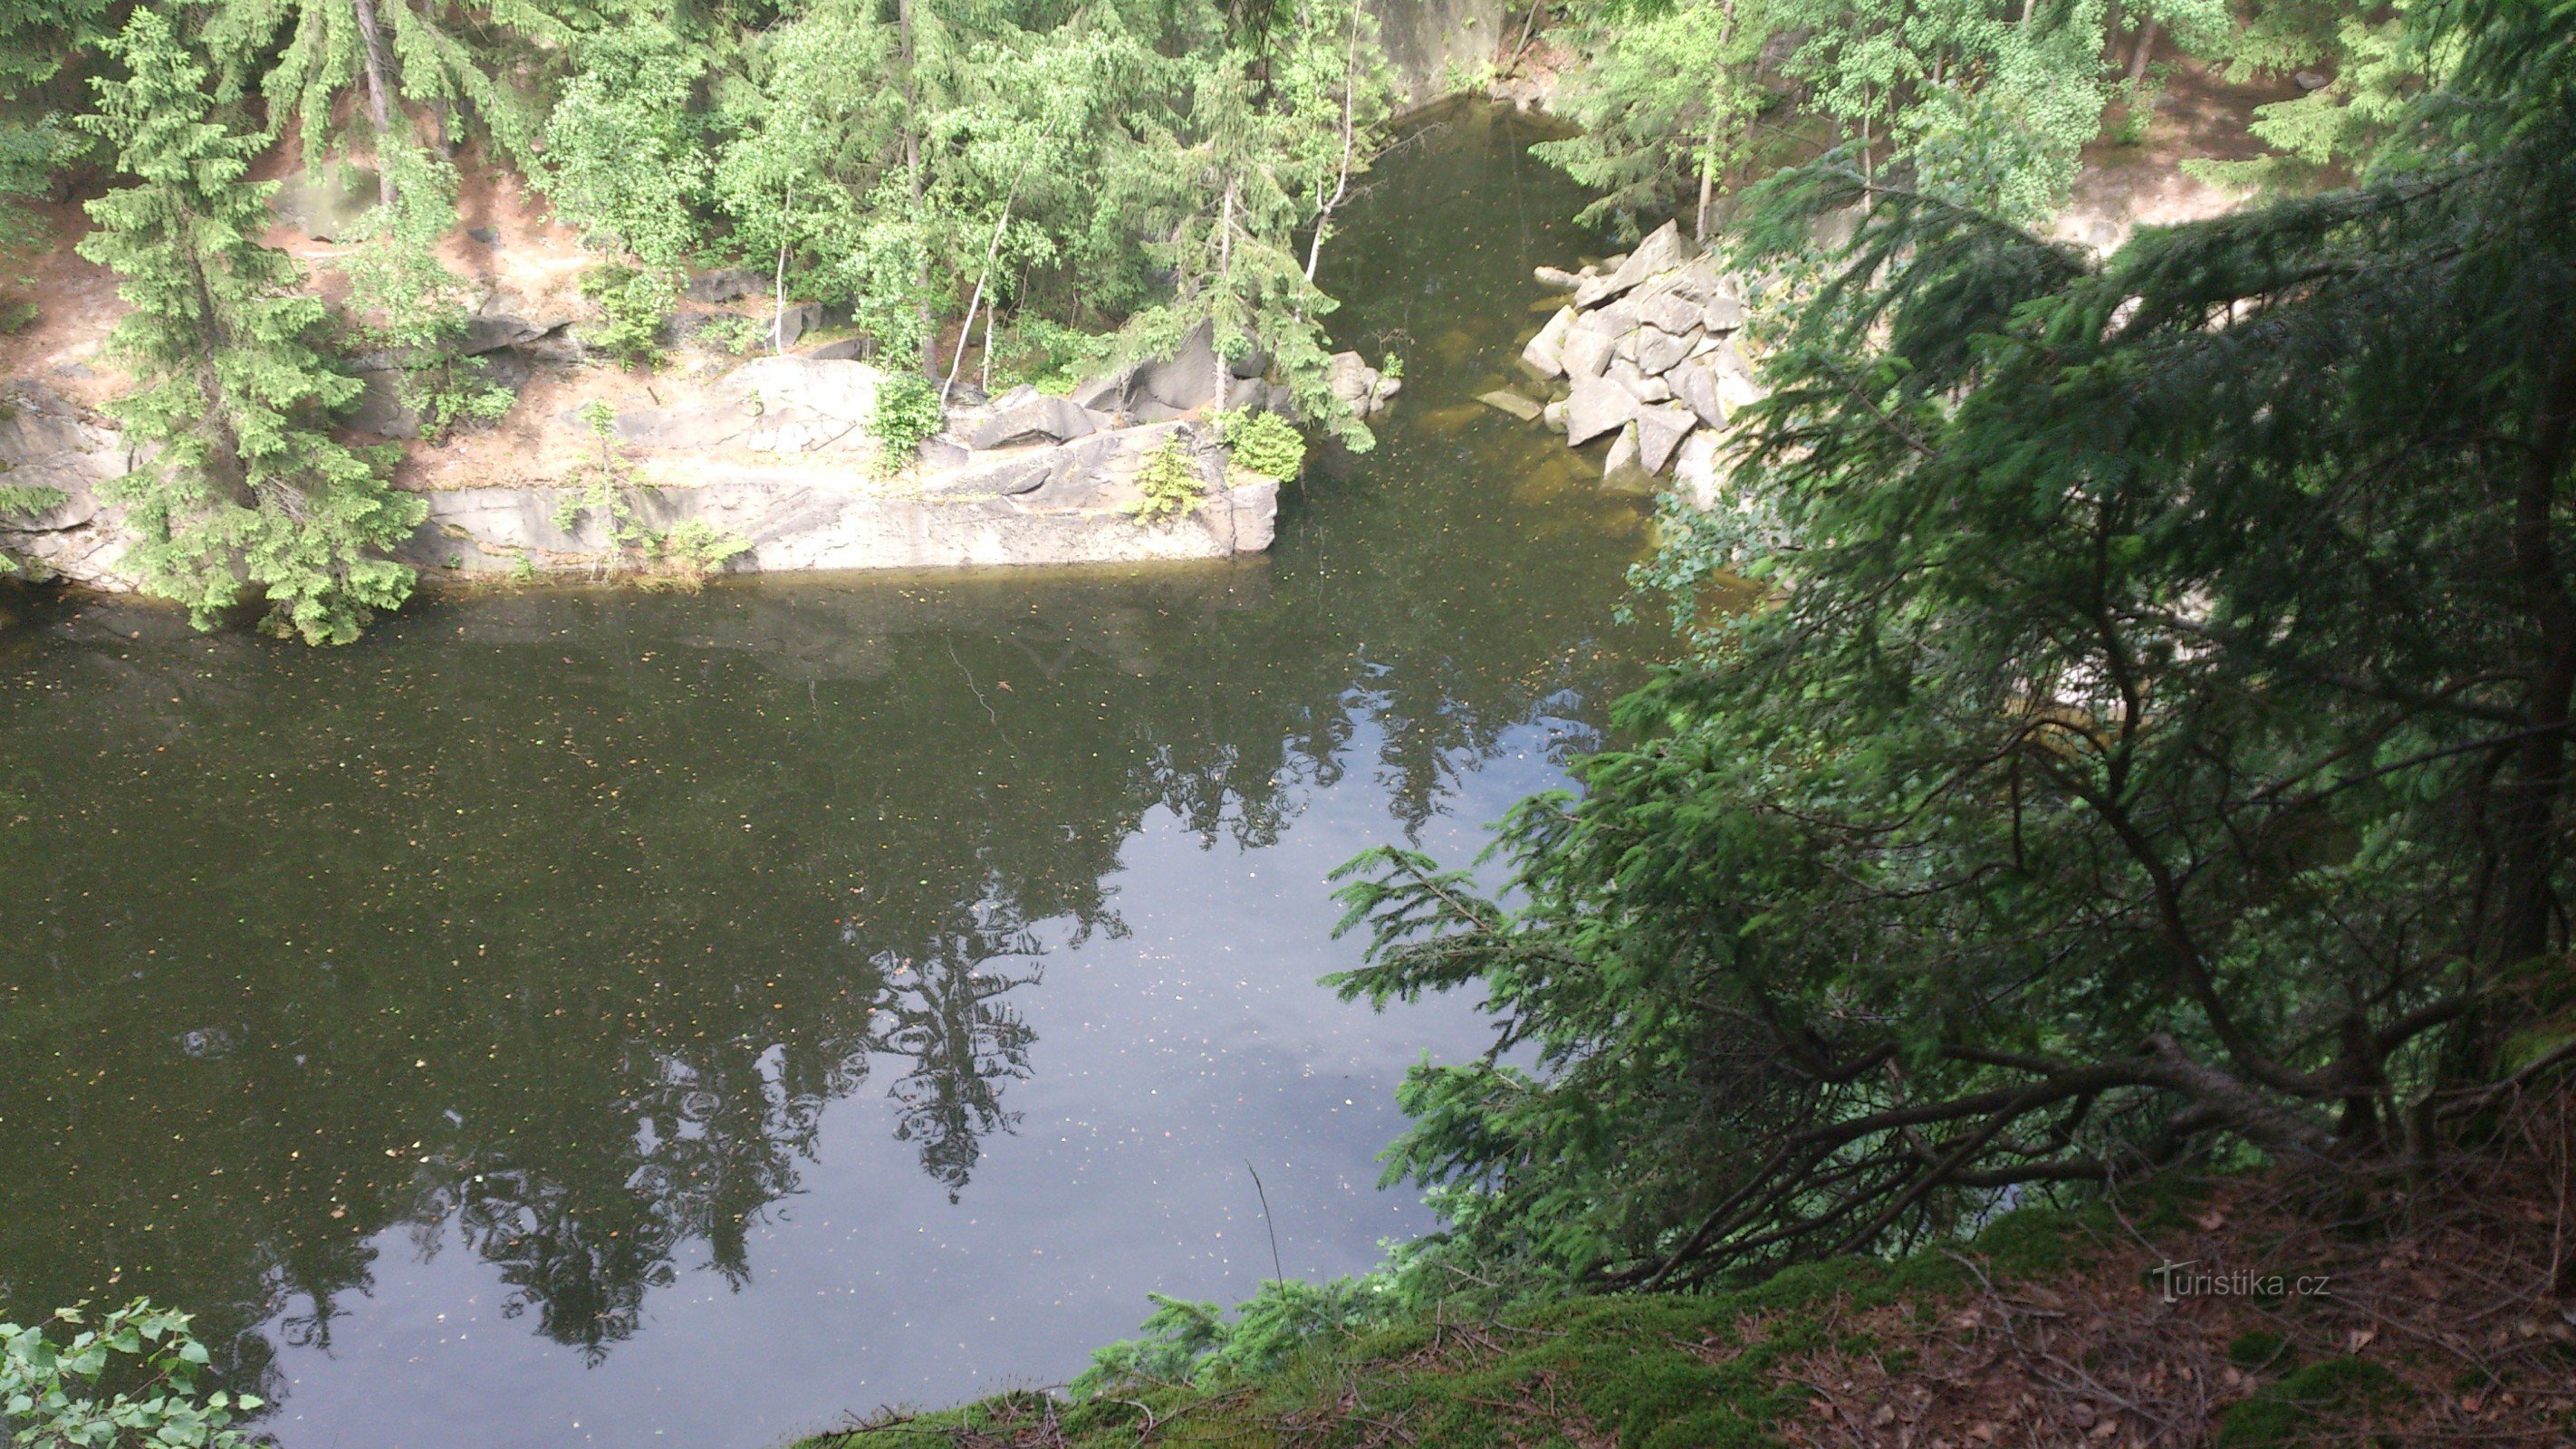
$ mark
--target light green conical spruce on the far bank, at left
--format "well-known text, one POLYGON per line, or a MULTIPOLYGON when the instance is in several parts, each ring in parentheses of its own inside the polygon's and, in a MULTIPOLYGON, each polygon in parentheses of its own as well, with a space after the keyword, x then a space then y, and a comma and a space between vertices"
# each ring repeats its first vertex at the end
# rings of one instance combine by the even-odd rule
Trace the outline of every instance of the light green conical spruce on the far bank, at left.
POLYGON ((376 551, 428 507, 386 484, 386 453, 330 435, 358 378, 317 345, 325 306, 296 291, 296 263, 255 239, 273 190, 247 180, 260 139, 209 118, 206 69, 160 13, 134 10, 108 51, 129 77, 93 80, 80 124, 134 185, 88 206, 80 255, 124 278, 134 311, 108 347, 134 391, 111 414, 157 450, 108 489, 139 535, 129 561, 198 628, 252 584, 268 628, 348 643, 410 597, 412 569, 376 551))

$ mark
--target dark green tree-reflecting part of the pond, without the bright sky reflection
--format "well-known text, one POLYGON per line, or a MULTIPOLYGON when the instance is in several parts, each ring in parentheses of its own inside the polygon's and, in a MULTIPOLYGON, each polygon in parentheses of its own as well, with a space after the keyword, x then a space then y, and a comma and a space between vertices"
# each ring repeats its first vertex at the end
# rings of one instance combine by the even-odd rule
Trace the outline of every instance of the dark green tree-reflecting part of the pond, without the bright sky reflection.
MULTIPOLYGON (((1435 134, 1391 172, 1440 185, 1352 216, 1350 335, 1479 342, 1417 358, 1270 558, 492 595, 348 651, 28 605, 0 631, 0 1315, 149 1292, 278 1398, 278 1354, 332 1351, 407 1246, 598 1364, 690 1266, 757 1292, 837 1104, 878 1099, 974 1210, 1048 1071, 1030 1001, 1105 991, 1059 963, 1136 927, 1149 821, 1275 852, 1358 790, 1419 831, 1512 731, 1579 744, 1631 679, 1605 628, 1643 520, 1553 438, 1450 417, 1528 268, 1577 250, 1525 139, 1435 134)), ((1280 891, 1321 937, 1316 872, 1280 891)), ((1224 901, 1151 924, 1234 945, 1224 901)))

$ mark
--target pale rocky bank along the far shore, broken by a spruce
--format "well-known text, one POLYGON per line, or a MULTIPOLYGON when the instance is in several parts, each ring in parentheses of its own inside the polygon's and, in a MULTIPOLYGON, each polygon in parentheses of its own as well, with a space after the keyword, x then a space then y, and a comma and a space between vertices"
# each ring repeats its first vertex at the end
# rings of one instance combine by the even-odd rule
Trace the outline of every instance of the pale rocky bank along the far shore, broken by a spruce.
MULTIPOLYGON (((474 350, 520 381, 577 347, 562 327, 479 317, 474 350)), ((827 345, 752 358, 706 381, 659 376, 652 407, 613 412, 598 438, 582 409, 556 412, 538 450, 549 481, 417 489, 430 507, 397 551, 422 579, 585 574, 618 558, 600 507, 611 479, 631 528, 701 525, 739 543, 726 571, 963 569, 1231 558, 1270 548, 1283 479, 1229 461, 1206 422, 1218 407, 1288 412, 1288 389, 1260 360, 1229 365, 1200 329, 1172 358, 1123 368, 1069 396, 961 389, 938 438, 902 468, 881 466, 868 432, 884 373, 827 345), (1180 445, 1203 497, 1185 515, 1139 522, 1139 474, 1180 445)), ((376 376, 384 376, 381 371, 376 376)), ((1358 353, 1334 358, 1334 391, 1373 414, 1396 394, 1358 353)), ((371 404, 376 435, 417 435, 399 404, 371 404)), ((64 502, 0 528, 31 571, 126 592, 131 535, 103 486, 137 466, 121 432, 41 381, 10 383, 0 417, 10 481, 64 502)))

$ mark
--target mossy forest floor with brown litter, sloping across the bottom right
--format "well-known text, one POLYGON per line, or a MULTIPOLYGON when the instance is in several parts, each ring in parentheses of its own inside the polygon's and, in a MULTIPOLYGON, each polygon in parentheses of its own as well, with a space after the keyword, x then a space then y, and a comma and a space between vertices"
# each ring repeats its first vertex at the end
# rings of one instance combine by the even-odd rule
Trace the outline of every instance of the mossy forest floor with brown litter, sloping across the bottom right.
POLYGON ((2432 1184, 2159 1181, 1904 1261, 1443 1310, 1224 1385, 886 1410, 804 1449, 2576 1444, 2576 1099, 2432 1184))

